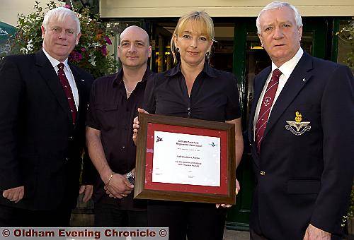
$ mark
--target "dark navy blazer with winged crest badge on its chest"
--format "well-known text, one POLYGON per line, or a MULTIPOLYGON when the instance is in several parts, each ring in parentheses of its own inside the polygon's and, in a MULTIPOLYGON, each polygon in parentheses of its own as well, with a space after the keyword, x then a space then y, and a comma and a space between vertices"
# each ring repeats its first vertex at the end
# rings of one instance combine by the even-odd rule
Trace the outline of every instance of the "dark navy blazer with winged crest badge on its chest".
POLYGON ((353 73, 304 52, 273 106, 258 155, 253 118, 270 71, 265 68, 254 80, 249 140, 256 190, 250 227, 268 239, 302 239, 309 223, 338 234, 353 183, 353 73), (298 136, 287 126, 295 112, 311 126, 298 136))

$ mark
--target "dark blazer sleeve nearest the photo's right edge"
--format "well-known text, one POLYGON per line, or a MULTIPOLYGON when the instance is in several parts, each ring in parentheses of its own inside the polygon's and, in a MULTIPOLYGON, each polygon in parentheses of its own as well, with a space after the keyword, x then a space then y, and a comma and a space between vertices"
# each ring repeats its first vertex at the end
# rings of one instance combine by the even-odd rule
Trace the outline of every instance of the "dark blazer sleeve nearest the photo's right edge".
POLYGON ((338 66, 321 100, 324 169, 311 224, 335 233, 348 210, 354 163, 354 79, 338 66))

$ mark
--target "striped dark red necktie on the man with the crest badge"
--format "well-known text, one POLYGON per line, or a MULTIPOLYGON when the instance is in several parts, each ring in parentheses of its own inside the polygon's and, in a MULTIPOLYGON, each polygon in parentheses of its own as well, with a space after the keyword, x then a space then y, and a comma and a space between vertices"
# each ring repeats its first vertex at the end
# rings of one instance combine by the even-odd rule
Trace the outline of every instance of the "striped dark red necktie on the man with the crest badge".
POLYGON ((261 151, 261 141, 263 138, 265 127, 268 123, 270 108, 272 107, 274 101, 275 92, 277 92, 278 89, 280 75, 282 75, 282 72, 278 68, 276 68, 273 71, 272 78, 270 79, 267 85, 267 90, 265 90, 264 93, 261 109, 259 110, 255 131, 255 139, 258 152, 261 151))

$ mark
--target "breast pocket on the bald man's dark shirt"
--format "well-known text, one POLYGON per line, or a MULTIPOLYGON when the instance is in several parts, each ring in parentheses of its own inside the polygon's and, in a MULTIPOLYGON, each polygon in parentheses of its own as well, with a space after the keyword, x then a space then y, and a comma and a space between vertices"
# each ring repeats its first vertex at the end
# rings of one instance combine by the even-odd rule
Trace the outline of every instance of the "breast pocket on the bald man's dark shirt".
POLYGON ((102 104, 96 106, 97 117, 101 128, 110 130, 116 126, 119 117, 118 110, 118 104, 102 104))

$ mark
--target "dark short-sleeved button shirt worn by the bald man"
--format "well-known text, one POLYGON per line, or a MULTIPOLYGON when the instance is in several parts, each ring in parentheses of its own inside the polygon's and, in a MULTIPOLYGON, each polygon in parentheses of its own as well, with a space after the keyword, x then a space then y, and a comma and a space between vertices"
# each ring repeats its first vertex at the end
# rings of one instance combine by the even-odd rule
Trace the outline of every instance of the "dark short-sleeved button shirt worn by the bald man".
MULTIPOLYGON (((122 76, 121 69, 118 73, 94 81, 86 119, 86 126, 101 131, 105 157, 112 171, 118 174, 126 174, 135 168, 136 147, 132 141, 132 122, 138 114, 137 108, 142 107, 146 83, 154 77, 154 73, 147 68, 142 81, 137 83, 129 98, 122 76)), ((95 201, 105 194, 103 181, 99 176, 96 180, 95 201)), ((132 202, 132 195, 122 198, 122 205, 129 198, 132 202)))

